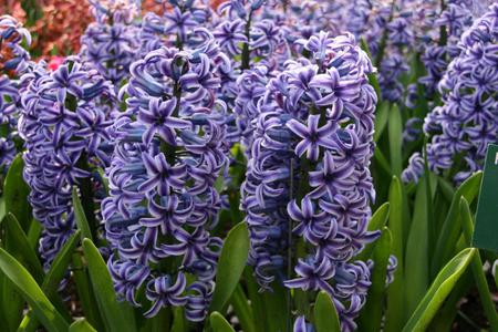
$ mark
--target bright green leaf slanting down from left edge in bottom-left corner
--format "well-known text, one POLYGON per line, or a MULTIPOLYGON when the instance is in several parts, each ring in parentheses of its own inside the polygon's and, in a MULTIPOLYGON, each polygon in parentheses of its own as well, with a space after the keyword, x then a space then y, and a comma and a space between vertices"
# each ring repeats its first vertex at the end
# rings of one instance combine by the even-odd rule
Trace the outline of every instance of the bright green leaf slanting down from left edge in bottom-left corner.
POLYGON ((34 314, 49 331, 68 331, 69 324, 55 310, 24 267, 0 248, 0 269, 15 284, 18 291, 33 309, 34 314))

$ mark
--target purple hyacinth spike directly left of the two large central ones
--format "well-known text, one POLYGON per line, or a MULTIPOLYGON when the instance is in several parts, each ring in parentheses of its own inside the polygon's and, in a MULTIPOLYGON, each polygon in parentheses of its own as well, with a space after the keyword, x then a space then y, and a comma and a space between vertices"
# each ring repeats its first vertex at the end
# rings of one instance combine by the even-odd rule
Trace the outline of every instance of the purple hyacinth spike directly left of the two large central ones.
POLYGON ((40 253, 49 264, 74 231, 72 187, 93 191, 90 205, 102 187, 92 167, 108 164, 107 105, 113 86, 77 58, 54 72, 39 64, 22 80, 19 132, 27 148, 24 179, 31 188, 33 217, 43 225, 40 253))

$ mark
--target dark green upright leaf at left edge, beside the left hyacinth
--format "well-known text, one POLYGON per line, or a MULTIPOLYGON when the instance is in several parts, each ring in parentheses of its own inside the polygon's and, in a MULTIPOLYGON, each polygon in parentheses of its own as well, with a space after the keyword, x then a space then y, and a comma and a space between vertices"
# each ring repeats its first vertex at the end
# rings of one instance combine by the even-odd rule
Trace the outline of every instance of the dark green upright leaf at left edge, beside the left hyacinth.
POLYGON ((22 177, 23 167, 22 154, 19 154, 7 172, 3 198, 6 200, 6 212, 14 215, 24 232, 28 232, 31 222, 31 205, 28 201, 30 188, 22 177))

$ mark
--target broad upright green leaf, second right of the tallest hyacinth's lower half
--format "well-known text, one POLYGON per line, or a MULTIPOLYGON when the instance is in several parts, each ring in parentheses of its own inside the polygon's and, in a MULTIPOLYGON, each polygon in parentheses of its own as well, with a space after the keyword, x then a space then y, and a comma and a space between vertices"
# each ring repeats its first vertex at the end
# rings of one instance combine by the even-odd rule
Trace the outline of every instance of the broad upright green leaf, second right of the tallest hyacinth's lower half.
POLYGON ((429 286, 428 267, 428 210, 427 179, 421 178, 415 195, 413 221, 405 253, 406 312, 408 315, 417 308, 429 286))

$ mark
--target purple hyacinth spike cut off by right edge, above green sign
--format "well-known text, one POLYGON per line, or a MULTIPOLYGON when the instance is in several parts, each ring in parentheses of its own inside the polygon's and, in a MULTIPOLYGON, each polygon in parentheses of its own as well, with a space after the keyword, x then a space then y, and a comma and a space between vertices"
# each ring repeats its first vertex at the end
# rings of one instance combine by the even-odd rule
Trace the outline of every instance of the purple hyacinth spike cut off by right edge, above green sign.
MULTIPOLYGON (((497 142, 498 4, 463 33, 458 48, 438 85, 443 105, 424 123, 429 168, 440 173, 457 167, 456 183, 480 169, 488 144, 497 142)), ((417 172, 416 159, 407 174, 417 172)))

